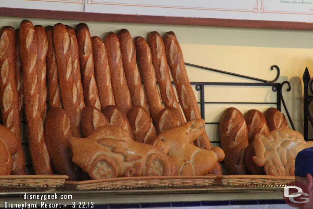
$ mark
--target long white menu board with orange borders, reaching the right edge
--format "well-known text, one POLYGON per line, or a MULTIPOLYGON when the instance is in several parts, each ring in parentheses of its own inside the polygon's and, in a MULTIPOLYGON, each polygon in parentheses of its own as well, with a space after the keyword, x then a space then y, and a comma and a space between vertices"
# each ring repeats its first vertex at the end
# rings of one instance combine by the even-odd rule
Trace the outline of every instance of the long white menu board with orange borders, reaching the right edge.
POLYGON ((85 12, 313 22, 313 0, 86 0, 85 12))

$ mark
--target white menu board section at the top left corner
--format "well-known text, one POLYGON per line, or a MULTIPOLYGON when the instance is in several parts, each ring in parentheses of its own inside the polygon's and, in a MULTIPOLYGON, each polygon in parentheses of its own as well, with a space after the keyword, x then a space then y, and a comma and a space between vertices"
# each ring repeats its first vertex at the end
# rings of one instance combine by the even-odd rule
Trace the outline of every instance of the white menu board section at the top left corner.
POLYGON ((0 0, 0 7, 84 12, 85 0, 0 0))

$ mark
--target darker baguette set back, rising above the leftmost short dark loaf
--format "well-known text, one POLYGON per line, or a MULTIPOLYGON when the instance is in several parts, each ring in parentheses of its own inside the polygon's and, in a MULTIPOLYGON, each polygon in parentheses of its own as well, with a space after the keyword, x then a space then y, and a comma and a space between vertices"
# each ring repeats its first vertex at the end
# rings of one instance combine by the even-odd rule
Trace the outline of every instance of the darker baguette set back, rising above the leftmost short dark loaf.
POLYGON ((48 85, 49 108, 63 107, 59 85, 58 65, 55 59, 55 51, 53 44, 53 26, 46 26, 44 29, 46 31, 46 36, 48 39, 47 85, 48 85))

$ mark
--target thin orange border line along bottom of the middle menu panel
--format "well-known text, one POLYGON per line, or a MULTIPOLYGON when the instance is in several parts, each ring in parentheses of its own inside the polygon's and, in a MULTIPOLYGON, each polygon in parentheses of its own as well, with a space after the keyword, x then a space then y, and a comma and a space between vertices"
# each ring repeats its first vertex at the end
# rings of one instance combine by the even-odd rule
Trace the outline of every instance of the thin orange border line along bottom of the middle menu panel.
POLYGON ((112 2, 101 3, 101 2, 96 2, 95 0, 88 0, 87 4, 102 4, 102 5, 131 6, 131 7, 197 9, 197 10, 214 10, 214 11, 231 11, 231 12, 253 12, 253 13, 258 13, 259 0, 256 0, 255 6, 252 8, 252 10, 247 10, 247 9, 225 9, 225 8, 177 7, 177 6, 169 6, 169 5, 126 4, 126 3, 112 3, 112 2))

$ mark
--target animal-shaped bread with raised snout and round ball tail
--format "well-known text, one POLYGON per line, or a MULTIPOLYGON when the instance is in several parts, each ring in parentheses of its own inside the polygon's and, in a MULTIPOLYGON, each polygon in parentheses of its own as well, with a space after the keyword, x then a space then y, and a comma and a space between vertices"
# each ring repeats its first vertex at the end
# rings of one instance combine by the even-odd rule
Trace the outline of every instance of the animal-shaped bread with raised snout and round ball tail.
POLYGON ((151 142, 166 153, 176 165, 176 175, 207 175, 224 159, 219 147, 200 149, 192 144, 204 131, 204 120, 196 119, 169 129, 151 142))

